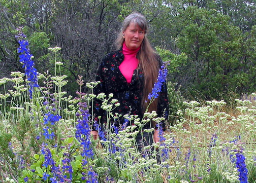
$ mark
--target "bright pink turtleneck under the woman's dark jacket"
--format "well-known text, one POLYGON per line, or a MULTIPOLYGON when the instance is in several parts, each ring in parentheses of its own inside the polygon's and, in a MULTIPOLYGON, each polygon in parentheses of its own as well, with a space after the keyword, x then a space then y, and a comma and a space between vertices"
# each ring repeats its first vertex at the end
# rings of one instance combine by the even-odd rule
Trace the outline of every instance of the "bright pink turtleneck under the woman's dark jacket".
POLYGON ((122 63, 119 65, 119 69, 128 84, 131 83, 133 72, 138 67, 139 64, 139 60, 136 58, 136 55, 139 52, 139 50, 140 47, 135 50, 131 50, 126 47, 125 42, 123 43, 122 53, 124 55, 124 59, 122 63))

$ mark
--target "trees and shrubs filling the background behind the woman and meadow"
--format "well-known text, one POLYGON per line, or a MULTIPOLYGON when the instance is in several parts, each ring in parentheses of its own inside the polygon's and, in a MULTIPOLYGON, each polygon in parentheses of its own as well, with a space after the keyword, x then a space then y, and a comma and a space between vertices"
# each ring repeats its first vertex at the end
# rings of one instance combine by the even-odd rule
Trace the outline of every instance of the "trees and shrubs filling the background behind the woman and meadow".
POLYGON ((92 81, 103 56, 115 49, 113 43, 121 21, 130 13, 139 12, 147 18, 147 37, 152 46, 170 56, 169 79, 181 86, 185 98, 229 100, 229 93, 242 95, 255 88, 256 7, 252 0, 33 4, 2 0, 1 7, 1 76, 21 69, 14 35, 15 28, 22 26, 38 60, 39 72, 54 67, 53 62, 47 63, 46 48, 61 46, 68 87, 74 88, 78 75, 92 81))

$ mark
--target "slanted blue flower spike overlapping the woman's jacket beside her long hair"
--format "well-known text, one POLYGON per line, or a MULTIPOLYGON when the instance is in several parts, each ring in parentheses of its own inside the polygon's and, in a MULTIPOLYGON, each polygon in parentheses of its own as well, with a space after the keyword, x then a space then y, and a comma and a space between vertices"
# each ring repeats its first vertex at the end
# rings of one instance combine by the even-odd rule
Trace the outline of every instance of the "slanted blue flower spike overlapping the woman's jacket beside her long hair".
POLYGON ((161 66, 161 69, 159 69, 157 81, 154 83, 154 87, 152 89, 152 93, 149 93, 148 99, 151 100, 151 98, 157 98, 158 92, 161 91, 163 83, 165 83, 167 77, 167 68, 165 65, 161 66))

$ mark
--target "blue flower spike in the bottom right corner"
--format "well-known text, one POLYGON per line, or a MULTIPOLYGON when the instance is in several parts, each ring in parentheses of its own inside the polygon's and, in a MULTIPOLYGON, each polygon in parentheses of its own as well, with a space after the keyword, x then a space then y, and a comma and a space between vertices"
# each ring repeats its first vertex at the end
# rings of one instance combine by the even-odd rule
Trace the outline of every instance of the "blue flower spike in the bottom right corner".
POLYGON ((248 183, 248 170, 245 164, 245 157, 242 154, 243 150, 239 150, 236 154, 236 168, 239 172, 240 183, 248 183))

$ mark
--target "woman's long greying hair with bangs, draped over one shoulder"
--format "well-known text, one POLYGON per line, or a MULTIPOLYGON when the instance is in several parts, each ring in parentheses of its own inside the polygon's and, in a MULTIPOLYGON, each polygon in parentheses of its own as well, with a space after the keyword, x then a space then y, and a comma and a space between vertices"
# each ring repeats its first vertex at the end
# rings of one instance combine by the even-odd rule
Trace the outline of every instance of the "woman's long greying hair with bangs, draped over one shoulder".
POLYGON ((124 42, 124 38, 122 36, 123 31, 125 31, 131 23, 139 25, 139 27, 145 32, 144 39, 141 43, 141 49, 137 54, 137 58, 139 60, 138 68, 140 68, 144 74, 143 97, 141 101, 142 112, 145 112, 147 107, 147 112, 157 111, 157 99, 155 99, 154 102, 148 106, 148 94, 152 92, 154 83, 157 80, 159 62, 157 60, 157 54, 154 53, 154 50, 146 37, 148 32, 146 18, 139 13, 133 13, 127 16, 122 23, 122 28, 120 33, 118 34, 115 44, 117 46, 117 49, 120 49, 122 47, 124 42))

